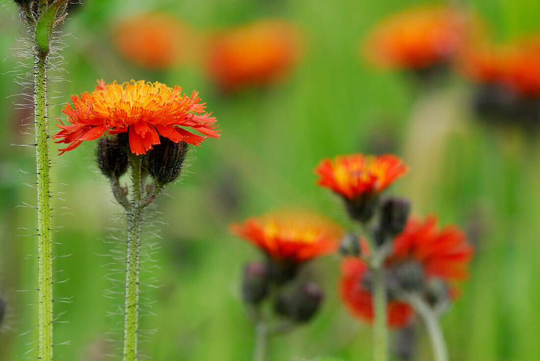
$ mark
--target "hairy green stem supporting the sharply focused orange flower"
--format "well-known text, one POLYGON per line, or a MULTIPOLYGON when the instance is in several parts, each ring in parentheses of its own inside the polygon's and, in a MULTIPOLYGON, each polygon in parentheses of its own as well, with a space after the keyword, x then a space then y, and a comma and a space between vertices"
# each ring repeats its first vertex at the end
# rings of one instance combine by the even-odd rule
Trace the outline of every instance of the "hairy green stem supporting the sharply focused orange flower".
POLYGON ((133 202, 127 210, 127 269, 124 318, 124 361, 137 360, 139 328, 140 230, 143 214, 141 158, 131 155, 133 202))

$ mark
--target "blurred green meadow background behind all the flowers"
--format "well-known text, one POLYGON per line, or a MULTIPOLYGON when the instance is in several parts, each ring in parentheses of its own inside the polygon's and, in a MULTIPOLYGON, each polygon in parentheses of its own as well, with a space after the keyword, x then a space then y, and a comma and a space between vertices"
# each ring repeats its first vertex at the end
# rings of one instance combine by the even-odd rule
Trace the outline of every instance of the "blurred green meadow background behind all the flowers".
MULTIPOLYGON (((441 223, 467 229, 477 254, 462 297, 442 318, 451 359, 467 361, 540 359, 540 147, 534 136, 494 129, 471 117, 470 87, 458 76, 426 92, 410 74, 374 70, 360 58, 361 40, 384 16, 417 1, 206 0, 149 2, 85 1, 62 27, 64 78, 50 85, 54 103, 90 91, 96 79, 159 80, 196 89, 218 118, 221 139, 209 139, 190 153, 183 180, 161 196, 157 208, 161 247, 152 257, 156 284, 147 296, 156 316, 142 328, 156 329, 143 353, 156 360, 248 360, 252 325, 239 298, 239 278, 247 260, 260 257, 249 244, 228 233, 228 224, 287 206, 317 210, 348 226, 341 204, 315 186, 313 168, 325 156, 393 151, 411 172, 390 191, 410 196, 417 214, 436 213, 441 223), (110 43, 119 19, 145 11, 163 11, 195 30, 206 32, 255 21, 284 18, 300 26, 305 53, 290 77, 278 84, 224 95, 202 67, 191 64, 167 71, 131 65, 110 43), (52 93, 58 92, 58 93, 52 93)), ((425 3, 425 2, 423 2, 425 3)), ((36 292, 33 142, 16 110, 24 90, 14 82, 24 69, 12 56, 24 38, 11 2, 0 11, 0 295, 11 310, 0 333, 0 360, 15 360, 35 338, 36 292), (15 73, 7 73, 16 69, 15 73), (18 70, 17 70, 18 69, 18 70), (23 172, 22 172, 23 171, 23 172), (28 256, 28 257, 27 257, 28 256), (28 335, 22 333, 30 331, 28 335)), ((540 3, 532 0, 475 0, 470 6, 495 30, 498 39, 537 31, 540 3)), ((190 49, 186 49, 189 52, 190 49)), ((60 106, 51 115, 60 117, 60 106)), ((51 130, 55 130, 51 121, 51 130)), ((55 342, 58 360, 90 361, 113 349, 107 333, 118 328, 120 301, 105 297, 108 228, 120 207, 97 172, 93 146, 57 156, 52 145, 55 200, 55 254, 58 280, 55 304, 61 315, 55 342), (68 212, 66 215, 62 215, 68 212), (61 228, 60 228, 61 227, 61 228), (61 272, 60 272, 61 271, 61 272)), ((121 235, 121 234, 120 234, 121 235)), ((150 239, 151 237, 149 237, 150 239)), ((156 239, 152 239, 156 241, 156 239)), ((326 302, 313 322, 271 341, 268 360, 311 359, 319 355, 347 360, 371 358, 369 326, 348 316, 336 292, 339 257, 313 264, 326 290, 326 302)), ((119 265, 123 268, 123 265, 119 265)), ((120 291, 122 289, 119 289, 120 291)), ((112 336, 117 338, 117 336, 112 336)), ((419 359, 430 359, 420 335, 419 359)), ((33 353, 29 354, 30 356, 33 353)))

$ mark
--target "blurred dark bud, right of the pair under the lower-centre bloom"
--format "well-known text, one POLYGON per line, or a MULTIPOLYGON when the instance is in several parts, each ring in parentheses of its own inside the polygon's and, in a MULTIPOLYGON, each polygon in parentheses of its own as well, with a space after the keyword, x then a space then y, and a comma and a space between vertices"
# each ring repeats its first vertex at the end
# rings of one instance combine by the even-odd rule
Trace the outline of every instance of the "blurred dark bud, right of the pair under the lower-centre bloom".
POLYGON ((276 299, 275 311, 294 322, 307 322, 319 309, 324 296, 314 282, 302 283, 276 299))

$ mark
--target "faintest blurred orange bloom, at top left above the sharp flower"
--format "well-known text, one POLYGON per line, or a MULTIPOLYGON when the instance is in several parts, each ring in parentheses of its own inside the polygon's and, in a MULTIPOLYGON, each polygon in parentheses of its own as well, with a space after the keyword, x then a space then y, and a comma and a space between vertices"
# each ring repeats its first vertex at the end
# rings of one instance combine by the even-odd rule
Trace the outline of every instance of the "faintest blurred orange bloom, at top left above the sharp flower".
POLYGON ((151 69, 177 65, 193 48, 186 26, 163 13, 126 19, 116 27, 113 42, 126 59, 151 69))

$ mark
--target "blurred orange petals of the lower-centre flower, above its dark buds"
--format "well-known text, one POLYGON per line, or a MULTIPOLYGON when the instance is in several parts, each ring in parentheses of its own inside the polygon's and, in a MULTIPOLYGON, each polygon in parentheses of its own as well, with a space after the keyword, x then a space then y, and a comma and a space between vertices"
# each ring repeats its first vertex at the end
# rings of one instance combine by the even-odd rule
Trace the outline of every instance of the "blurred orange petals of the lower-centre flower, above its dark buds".
POLYGON ((253 243, 273 260, 301 263, 335 251, 339 226, 309 213, 270 213, 232 224, 231 233, 253 243))

